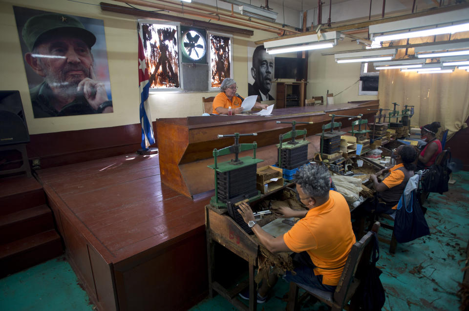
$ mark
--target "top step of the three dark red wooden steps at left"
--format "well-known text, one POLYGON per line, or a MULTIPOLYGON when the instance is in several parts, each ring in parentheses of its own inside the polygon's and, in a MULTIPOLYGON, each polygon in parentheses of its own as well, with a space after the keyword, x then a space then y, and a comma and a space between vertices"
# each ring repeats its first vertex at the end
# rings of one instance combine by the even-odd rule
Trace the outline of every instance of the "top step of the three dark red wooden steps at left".
POLYGON ((34 178, 0 178, 0 215, 45 204, 43 186, 34 178))

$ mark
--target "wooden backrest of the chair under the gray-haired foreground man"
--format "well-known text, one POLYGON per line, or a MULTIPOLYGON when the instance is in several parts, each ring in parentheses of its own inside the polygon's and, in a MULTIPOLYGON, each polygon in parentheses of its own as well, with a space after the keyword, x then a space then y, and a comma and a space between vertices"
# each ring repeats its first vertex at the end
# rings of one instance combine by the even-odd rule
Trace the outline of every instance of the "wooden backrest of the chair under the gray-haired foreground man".
POLYGON ((360 241, 357 241, 350 249, 341 279, 334 292, 334 301, 341 306, 341 309, 347 304, 359 285, 359 282, 355 280, 355 274, 359 268, 368 265, 373 247, 373 244, 370 243, 374 239, 373 232, 378 233, 380 226, 379 222, 375 222, 371 231, 363 235, 360 241))

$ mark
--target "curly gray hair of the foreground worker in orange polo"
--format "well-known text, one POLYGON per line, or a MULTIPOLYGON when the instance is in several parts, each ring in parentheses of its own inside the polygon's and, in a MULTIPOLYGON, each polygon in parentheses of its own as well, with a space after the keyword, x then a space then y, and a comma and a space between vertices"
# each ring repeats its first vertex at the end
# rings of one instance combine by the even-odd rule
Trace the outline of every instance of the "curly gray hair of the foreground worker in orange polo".
POLYGON ((324 164, 301 166, 293 176, 303 192, 312 197, 324 197, 331 187, 331 174, 324 164))

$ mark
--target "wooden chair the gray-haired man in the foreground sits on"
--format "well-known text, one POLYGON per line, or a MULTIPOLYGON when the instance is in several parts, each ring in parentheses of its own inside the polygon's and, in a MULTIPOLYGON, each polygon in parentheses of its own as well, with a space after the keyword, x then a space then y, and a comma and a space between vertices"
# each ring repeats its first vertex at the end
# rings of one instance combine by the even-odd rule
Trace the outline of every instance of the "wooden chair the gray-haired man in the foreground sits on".
POLYGON ((372 246, 370 242, 374 239, 373 232, 378 233, 380 223, 376 222, 373 225, 371 231, 368 231, 360 241, 356 242, 350 253, 348 254, 347 261, 343 267, 341 279, 337 285, 336 291, 329 292, 311 288, 303 284, 290 282, 290 292, 288 294, 288 311, 298 310, 298 289, 306 290, 306 295, 316 297, 318 300, 324 302, 332 308, 332 311, 342 310, 349 301, 351 306, 349 310, 352 310, 354 304, 358 302, 357 297, 353 297, 359 284, 360 280, 355 275, 361 275, 360 273, 368 265, 371 257, 372 246))

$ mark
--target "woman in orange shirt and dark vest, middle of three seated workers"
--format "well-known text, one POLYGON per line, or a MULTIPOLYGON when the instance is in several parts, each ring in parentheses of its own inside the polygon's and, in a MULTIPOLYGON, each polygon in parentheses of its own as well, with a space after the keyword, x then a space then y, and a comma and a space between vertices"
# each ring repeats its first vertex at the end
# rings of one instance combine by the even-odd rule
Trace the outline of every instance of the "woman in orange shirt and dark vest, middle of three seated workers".
POLYGON ((400 145, 392 151, 391 156, 396 159, 396 165, 389 168, 389 172, 384 175, 381 183, 378 181, 378 176, 388 170, 387 168, 370 175, 373 187, 378 192, 378 202, 373 203, 371 207, 365 207, 369 211, 393 214, 407 186, 407 181, 414 176, 416 167, 414 162, 418 156, 414 146, 400 145))

